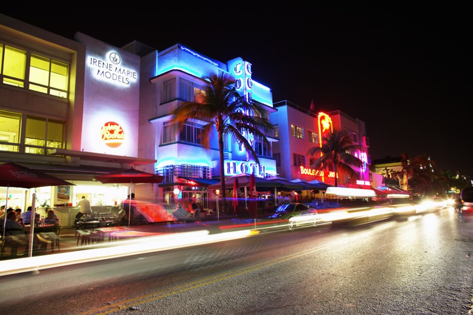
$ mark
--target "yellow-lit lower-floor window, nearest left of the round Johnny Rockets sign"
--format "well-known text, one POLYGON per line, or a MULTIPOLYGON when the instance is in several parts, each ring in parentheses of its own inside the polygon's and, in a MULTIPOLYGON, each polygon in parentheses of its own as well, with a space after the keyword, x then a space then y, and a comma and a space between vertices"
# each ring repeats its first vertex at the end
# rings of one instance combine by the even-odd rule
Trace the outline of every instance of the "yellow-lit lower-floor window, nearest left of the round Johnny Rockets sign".
POLYGON ((47 149, 64 149, 64 130, 64 122, 28 116, 25 153, 47 154, 47 149))

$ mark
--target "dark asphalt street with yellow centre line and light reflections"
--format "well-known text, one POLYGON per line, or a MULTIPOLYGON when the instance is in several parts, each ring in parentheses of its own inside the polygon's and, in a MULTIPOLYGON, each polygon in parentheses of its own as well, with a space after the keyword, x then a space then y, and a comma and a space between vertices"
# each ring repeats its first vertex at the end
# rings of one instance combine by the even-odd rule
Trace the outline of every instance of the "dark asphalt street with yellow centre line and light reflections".
POLYGON ((473 223, 451 208, 0 278, 2 314, 468 314, 473 223))

